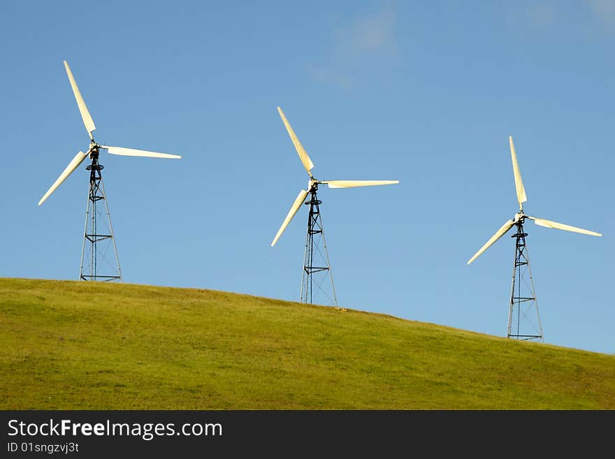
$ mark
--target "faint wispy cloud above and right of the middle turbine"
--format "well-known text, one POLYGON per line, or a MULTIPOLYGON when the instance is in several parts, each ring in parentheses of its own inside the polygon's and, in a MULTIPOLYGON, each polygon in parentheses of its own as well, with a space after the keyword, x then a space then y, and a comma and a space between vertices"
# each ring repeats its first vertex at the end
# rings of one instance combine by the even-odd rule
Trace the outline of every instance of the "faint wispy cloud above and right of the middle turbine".
POLYGON ((310 66, 312 78, 342 89, 354 87, 358 75, 397 54, 395 20, 393 8, 384 6, 334 29, 327 64, 310 66))

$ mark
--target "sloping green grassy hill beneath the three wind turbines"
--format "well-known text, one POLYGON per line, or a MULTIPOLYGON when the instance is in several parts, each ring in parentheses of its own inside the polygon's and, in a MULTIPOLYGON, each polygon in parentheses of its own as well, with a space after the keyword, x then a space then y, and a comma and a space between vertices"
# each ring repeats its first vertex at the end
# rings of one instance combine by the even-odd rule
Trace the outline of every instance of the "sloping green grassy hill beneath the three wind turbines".
POLYGON ((0 409, 615 409, 615 356, 222 291, 0 279, 0 409))

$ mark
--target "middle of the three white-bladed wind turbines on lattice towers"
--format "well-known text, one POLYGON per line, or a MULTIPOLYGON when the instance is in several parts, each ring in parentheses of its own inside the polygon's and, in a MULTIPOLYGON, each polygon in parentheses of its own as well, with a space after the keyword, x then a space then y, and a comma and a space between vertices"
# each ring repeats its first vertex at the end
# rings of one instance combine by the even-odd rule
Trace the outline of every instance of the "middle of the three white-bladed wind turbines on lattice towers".
POLYGON ((284 116, 284 112, 282 112, 282 108, 278 107, 277 111, 280 112, 280 117, 282 117, 282 122, 284 122, 284 126, 289 133, 289 136, 297 150, 299 155, 299 159, 303 164, 303 167, 307 171, 307 175, 310 176, 310 180, 307 182, 307 189, 302 189, 299 191, 299 194, 295 198, 291 209, 289 210, 286 218, 282 222, 282 226, 277 230, 275 238, 273 238, 273 242, 271 242, 271 247, 275 245, 284 230, 289 225, 291 219, 295 216, 299 207, 302 204, 310 206, 310 212, 307 218, 307 238, 305 240, 305 254, 303 256, 303 274, 301 275, 301 296, 299 297, 299 301, 301 303, 312 303, 312 291, 314 288, 314 284, 316 284, 317 289, 322 289, 322 279, 320 282, 314 281, 313 275, 317 272, 327 272, 328 277, 331 279, 331 292, 333 294, 333 298, 328 298, 328 300, 333 303, 335 307, 338 306, 338 299, 335 296, 335 286, 333 286, 333 275, 331 275, 331 263, 329 263, 328 252, 326 248, 326 241, 324 240, 324 232, 322 226, 322 217, 320 215, 320 205, 322 201, 317 198, 318 186, 320 184, 326 184, 329 188, 353 188, 353 187, 371 187, 374 185, 389 185, 399 183, 399 180, 317 180, 312 175, 312 168, 314 168, 314 163, 310 159, 310 156, 307 155, 307 152, 299 142, 295 132, 291 128, 291 125, 288 122, 286 116, 284 116), (307 198, 307 196, 310 197, 307 198), (314 237, 317 239, 314 240, 314 237), (324 246, 324 254, 320 251, 319 248, 319 239, 322 240, 324 246), (314 261, 314 254, 317 256, 322 256, 322 265, 317 265, 314 263, 318 263, 318 261, 314 261), (326 265, 325 265, 326 264, 326 265))

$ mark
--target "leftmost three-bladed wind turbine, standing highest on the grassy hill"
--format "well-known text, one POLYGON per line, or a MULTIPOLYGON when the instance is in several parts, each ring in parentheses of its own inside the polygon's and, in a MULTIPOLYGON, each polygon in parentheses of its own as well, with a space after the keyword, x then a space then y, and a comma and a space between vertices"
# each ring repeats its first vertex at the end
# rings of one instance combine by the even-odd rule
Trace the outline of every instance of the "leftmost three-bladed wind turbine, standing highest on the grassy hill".
MULTIPOLYGON (((71 72, 71 68, 68 66, 68 62, 64 61, 64 68, 66 68, 66 74, 68 75, 68 81, 71 82, 71 87, 73 89, 73 94, 75 95, 75 100, 77 101, 77 106, 79 108, 79 112, 81 114, 81 118, 83 119, 83 124, 85 125, 85 129, 89 136, 89 147, 87 152, 84 153, 82 151, 75 154, 75 157, 68 163, 68 166, 62 171, 57 180, 52 184, 50 189, 43 195, 41 201, 38 201, 38 205, 41 205, 49 198, 49 196, 59 187, 68 175, 71 175, 73 171, 80 166, 80 164, 85 161, 85 159, 89 156, 89 159, 92 160, 86 169, 89 170, 89 191, 87 197, 87 206, 85 210, 85 234, 83 239, 83 246, 81 251, 81 268, 79 277, 82 280, 119 280, 122 282, 122 271, 120 270, 120 260, 117 257, 117 247, 115 247, 115 239, 113 238, 113 229, 111 228, 111 217, 109 213, 109 207, 107 204, 107 198, 105 194, 105 188, 103 185, 101 170, 103 169, 103 165, 99 163, 99 153, 101 150, 107 150, 108 153, 118 154, 121 156, 145 156, 149 158, 171 158, 171 159, 179 159, 181 156, 177 154, 167 154, 167 153, 157 153, 157 152, 148 152, 145 150, 136 150, 134 148, 126 148, 126 147, 108 147, 107 145, 100 145, 94 140, 94 136, 92 136, 92 132, 96 129, 94 125, 94 121, 92 120, 92 116, 89 114, 87 110, 87 106, 85 105, 85 101, 81 96, 81 92, 77 87, 77 82, 75 82, 75 78, 73 77, 73 72, 71 72), (96 203, 98 201, 104 200, 106 206, 106 213, 108 217, 108 227, 106 233, 99 233, 99 228, 97 227, 98 223, 98 214, 100 210, 96 210, 96 203), (89 231, 88 231, 89 229, 89 231), (100 247, 98 247, 99 242, 107 241, 113 242, 113 250, 115 252, 115 261, 117 262, 117 268, 115 268, 115 272, 113 275, 101 275, 97 272, 99 258, 104 257, 104 253, 101 251, 100 247), (90 244, 87 256, 89 257, 89 263, 87 263, 86 270, 84 271, 84 255, 85 255, 85 245, 86 242, 90 244), (89 268, 89 273, 87 273, 87 269, 89 268)), ((106 247, 108 249, 108 247, 106 247)))

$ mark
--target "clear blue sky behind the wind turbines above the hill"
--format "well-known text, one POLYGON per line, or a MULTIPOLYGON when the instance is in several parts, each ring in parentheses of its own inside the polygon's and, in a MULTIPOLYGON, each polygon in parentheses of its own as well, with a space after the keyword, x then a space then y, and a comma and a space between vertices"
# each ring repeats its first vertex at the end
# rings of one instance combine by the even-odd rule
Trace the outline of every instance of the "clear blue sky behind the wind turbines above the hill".
POLYGON ((298 300, 307 174, 320 180, 340 306, 506 333, 518 210, 544 341, 612 354, 615 1, 0 3, 1 277, 78 279, 89 139, 103 145, 124 282, 298 300))

